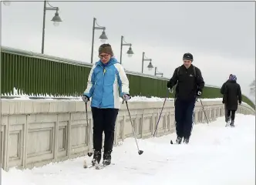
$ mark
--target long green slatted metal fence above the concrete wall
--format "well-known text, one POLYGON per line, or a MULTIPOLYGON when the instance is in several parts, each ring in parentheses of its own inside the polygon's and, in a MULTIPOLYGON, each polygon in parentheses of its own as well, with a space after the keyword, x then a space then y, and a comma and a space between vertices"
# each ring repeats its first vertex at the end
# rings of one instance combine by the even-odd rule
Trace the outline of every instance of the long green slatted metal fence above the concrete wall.
MULTIPOLYGON (((13 94, 13 88, 29 96, 82 96, 91 65, 18 49, 2 49, 1 94, 13 94)), ((139 72, 127 72, 131 96, 173 98, 167 93, 167 80, 139 72)), ((173 92, 175 89, 173 89, 173 92)), ((222 97, 219 88, 206 86, 202 98, 222 97)), ((243 101, 255 107, 246 96, 243 101)))

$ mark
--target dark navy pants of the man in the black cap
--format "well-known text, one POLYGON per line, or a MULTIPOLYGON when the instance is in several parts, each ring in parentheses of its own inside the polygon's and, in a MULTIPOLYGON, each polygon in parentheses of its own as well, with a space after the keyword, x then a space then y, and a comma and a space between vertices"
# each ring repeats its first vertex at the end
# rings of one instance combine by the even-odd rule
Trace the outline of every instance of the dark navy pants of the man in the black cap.
POLYGON ((194 106, 196 100, 182 100, 175 101, 175 121, 176 133, 181 138, 190 138, 194 123, 194 106))

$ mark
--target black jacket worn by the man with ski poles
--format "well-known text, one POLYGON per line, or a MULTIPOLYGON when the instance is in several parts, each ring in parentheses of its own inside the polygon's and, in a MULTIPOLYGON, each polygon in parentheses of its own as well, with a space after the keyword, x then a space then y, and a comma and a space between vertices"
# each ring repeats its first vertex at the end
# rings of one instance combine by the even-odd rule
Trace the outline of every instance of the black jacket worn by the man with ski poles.
POLYGON ((197 91, 204 89, 204 79, 200 69, 195 67, 196 76, 194 76, 194 66, 191 65, 188 69, 184 65, 180 66, 179 74, 178 68, 174 70, 173 77, 170 79, 168 86, 173 88, 176 86, 176 98, 184 100, 196 99, 197 91))

